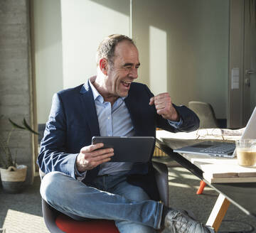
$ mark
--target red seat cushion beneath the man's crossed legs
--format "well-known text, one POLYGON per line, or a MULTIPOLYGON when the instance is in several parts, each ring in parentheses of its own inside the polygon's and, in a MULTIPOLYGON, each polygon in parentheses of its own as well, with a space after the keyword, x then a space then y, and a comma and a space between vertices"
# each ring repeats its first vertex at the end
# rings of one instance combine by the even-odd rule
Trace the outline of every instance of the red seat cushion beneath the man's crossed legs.
POLYGON ((66 215, 58 215, 55 223, 66 233, 119 233, 111 220, 76 221, 66 215))

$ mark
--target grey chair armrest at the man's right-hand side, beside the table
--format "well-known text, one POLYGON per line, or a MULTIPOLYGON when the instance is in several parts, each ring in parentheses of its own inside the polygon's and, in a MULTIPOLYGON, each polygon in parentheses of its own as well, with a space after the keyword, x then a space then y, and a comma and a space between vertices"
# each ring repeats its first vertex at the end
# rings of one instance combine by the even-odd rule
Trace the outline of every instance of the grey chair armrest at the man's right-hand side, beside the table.
POLYGON ((153 161, 154 175, 161 201, 169 206, 168 168, 164 163, 153 161))

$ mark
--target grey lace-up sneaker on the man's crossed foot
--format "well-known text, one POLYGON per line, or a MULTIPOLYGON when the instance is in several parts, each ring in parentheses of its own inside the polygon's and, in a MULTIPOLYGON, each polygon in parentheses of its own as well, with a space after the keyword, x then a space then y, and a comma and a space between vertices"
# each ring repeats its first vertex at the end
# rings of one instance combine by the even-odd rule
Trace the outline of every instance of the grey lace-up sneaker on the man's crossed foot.
POLYGON ((169 210, 164 220, 165 229, 172 233, 214 233, 212 227, 193 220, 185 211, 169 210))

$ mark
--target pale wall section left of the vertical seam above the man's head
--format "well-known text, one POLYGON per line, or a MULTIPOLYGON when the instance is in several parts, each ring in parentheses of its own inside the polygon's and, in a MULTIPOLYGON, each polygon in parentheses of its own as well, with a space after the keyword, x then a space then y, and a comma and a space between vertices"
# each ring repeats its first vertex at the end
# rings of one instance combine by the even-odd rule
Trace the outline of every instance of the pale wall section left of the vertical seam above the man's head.
POLYGON ((129 0, 35 0, 34 24, 38 124, 45 124, 55 92, 96 74, 100 41, 129 36, 129 0))

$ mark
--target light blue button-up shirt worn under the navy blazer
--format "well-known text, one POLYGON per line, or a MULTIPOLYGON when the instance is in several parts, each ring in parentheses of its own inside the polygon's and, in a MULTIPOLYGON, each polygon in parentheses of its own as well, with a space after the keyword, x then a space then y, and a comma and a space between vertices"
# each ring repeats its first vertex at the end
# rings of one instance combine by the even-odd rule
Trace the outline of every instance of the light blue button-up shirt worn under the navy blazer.
MULTIPOLYGON (((119 97, 111 106, 110 102, 105 102, 102 95, 96 90, 89 80, 90 87, 92 88, 93 98, 95 99, 95 107, 97 112, 97 118, 100 128, 100 136, 134 136, 134 126, 132 125, 132 119, 124 99, 126 97, 119 97)), ((179 122, 169 121, 171 126, 176 129, 182 124, 182 120, 179 122)), ((98 175, 114 174, 120 171, 130 170, 132 163, 102 163, 100 165, 100 171, 98 175)), ((85 173, 79 173, 75 167, 75 173, 84 176, 85 173)))

